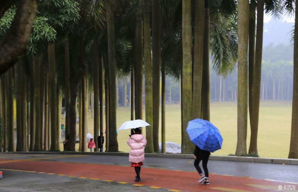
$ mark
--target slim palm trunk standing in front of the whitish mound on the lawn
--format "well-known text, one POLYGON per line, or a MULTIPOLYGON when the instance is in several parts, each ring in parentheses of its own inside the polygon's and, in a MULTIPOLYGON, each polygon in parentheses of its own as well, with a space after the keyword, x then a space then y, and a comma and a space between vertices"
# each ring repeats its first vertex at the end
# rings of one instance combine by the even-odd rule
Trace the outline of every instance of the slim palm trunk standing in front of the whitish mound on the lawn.
POLYGON ((165 68, 166 68, 165 64, 162 63, 161 65, 161 152, 163 154, 166 153, 166 69, 165 68))

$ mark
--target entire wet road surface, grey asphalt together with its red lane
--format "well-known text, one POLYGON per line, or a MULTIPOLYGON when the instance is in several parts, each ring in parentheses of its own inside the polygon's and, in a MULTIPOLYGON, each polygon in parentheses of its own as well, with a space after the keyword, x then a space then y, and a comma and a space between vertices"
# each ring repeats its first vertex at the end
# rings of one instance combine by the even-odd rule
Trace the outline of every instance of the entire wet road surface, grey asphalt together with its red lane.
POLYGON ((208 187, 196 183, 198 174, 193 159, 146 157, 141 171, 143 182, 140 183, 145 186, 134 186, 135 174, 129 166, 127 156, 0 153, 0 170, 4 172, 0 192, 103 189, 107 192, 269 192, 277 191, 280 185, 298 187, 298 165, 210 160, 211 185, 208 187))

